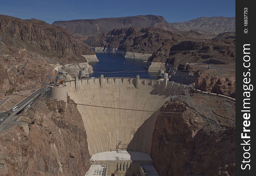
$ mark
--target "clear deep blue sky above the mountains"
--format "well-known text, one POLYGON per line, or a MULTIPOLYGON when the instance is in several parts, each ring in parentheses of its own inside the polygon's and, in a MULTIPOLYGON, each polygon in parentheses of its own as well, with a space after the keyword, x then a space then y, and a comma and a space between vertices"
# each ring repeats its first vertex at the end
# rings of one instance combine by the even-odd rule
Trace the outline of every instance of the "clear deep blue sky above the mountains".
POLYGON ((168 22, 182 22, 201 16, 235 16, 235 0, 6 0, 0 14, 47 23, 135 15, 161 15, 168 22))

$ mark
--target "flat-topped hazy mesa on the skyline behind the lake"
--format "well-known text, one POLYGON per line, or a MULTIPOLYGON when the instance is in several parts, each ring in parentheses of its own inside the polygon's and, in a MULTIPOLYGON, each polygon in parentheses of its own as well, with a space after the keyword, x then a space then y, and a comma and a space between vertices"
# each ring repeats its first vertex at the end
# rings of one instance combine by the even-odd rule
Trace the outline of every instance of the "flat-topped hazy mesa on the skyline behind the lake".
POLYGON ((172 25, 165 21, 163 16, 155 15, 54 21, 52 24, 81 38, 87 35, 99 35, 102 32, 111 31, 114 28, 129 28, 132 26, 140 28, 157 27, 165 30, 175 30, 172 25))

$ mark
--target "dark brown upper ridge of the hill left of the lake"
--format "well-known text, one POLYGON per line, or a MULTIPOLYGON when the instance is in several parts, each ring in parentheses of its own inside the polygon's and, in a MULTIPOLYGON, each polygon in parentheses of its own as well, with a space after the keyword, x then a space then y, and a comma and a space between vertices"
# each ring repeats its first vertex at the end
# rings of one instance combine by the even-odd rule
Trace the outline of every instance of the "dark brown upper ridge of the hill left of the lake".
POLYGON ((41 20, 22 20, 19 18, 0 15, 0 34, 11 39, 34 46, 59 57, 69 55, 94 55, 94 51, 83 42, 72 37, 64 29, 50 25, 41 20))

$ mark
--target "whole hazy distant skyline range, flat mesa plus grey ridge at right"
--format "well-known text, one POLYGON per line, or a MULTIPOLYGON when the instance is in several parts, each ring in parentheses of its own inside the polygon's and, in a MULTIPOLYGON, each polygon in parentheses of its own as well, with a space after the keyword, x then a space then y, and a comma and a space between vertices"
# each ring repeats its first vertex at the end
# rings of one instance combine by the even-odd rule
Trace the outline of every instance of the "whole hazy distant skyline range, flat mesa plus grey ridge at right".
POLYGON ((224 32, 235 32, 235 17, 200 17, 194 20, 178 23, 168 23, 163 16, 139 15, 119 18, 81 19, 71 21, 54 21, 75 37, 99 35, 115 28, 156 27, 168 31, 197 31, 207 34, 209 38, 224 32))

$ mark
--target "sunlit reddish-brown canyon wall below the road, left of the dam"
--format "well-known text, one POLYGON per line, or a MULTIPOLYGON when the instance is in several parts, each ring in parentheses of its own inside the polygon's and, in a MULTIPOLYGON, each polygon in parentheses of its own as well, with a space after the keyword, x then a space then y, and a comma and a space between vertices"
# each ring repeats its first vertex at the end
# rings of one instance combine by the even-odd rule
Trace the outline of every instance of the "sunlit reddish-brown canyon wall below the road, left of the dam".
POLYGON ((84 176, 90 158, 87 135, 76 104, 68 102, 44 104, 29 134, 20 127, 0 134, 2 175, 84 176))

